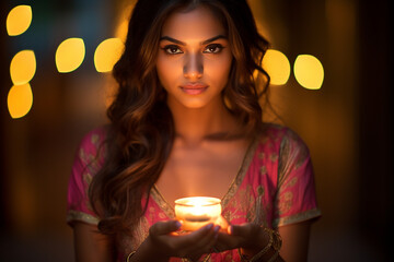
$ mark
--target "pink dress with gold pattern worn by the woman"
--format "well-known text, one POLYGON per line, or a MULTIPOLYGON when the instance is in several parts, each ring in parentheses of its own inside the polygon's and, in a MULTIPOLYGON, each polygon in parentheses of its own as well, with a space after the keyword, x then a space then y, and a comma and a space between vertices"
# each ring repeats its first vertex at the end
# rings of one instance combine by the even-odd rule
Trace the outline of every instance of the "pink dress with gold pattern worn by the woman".
MULTIPOLYGON (((76 157, 68 188, 67 222, 96 225, 99 218, 89 203, 88 190, 93 176, 100 170, 104 154, 100 144, 105 130, 96 129, 84 136, 76 157)), ((148 210, 135 229, 135 237, 117 242, 118 261, 140 246, 151 225, 174 218, 173 207, 157 187, 151 189, 148 210)), ((254 140, 245 154, 243 165, 222 198, 222 215, 230 224, 253 222, 277 228, 283 225, 316 218, 321 215, 316 204, 314 176, 309 150, 290 129, 269 124, 254 140)), ((172 258, 171 261, 187 261, 172 258)), ((241 261, 237 250, 211 253, 200 261, 241 261)))

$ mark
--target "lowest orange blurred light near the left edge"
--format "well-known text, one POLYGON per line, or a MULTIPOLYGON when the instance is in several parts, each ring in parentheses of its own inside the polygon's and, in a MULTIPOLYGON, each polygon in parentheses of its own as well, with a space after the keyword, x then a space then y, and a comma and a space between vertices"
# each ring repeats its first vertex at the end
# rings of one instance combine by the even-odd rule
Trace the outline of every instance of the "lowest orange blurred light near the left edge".
POLYGON ((32 108, 33 93, 28 83, 11 87, 7 104, 12 118, 24 117, 32 108))

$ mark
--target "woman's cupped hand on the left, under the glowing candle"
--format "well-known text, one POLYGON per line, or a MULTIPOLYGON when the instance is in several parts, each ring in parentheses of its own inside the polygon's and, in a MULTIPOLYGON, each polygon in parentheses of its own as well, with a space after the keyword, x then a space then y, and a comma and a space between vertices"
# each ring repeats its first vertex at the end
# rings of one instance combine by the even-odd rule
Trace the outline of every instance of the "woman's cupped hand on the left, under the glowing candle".
POLYGON ((150 261, 149 255, 152 254, 155 255, 153 261, 167 261, 171 257, 195 260, 212 250, 220 229, 220 226, 209 224, 193 233, 177 234, 179 227, 181 223, 177 221, 153 224, 148 238, 134 257, 138 257, 138 261, 150 261), (142 254, 141 248, 146 255, 142 254))

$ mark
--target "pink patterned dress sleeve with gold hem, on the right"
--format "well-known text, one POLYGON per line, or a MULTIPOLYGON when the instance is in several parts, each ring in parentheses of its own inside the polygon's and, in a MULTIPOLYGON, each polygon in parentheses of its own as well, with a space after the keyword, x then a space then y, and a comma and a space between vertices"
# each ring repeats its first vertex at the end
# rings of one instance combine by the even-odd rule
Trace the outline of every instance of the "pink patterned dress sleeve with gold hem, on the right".
POLYGON ((278 227, 320 216, 309 150, 288 130, 280 144, 273 225, 278 227))

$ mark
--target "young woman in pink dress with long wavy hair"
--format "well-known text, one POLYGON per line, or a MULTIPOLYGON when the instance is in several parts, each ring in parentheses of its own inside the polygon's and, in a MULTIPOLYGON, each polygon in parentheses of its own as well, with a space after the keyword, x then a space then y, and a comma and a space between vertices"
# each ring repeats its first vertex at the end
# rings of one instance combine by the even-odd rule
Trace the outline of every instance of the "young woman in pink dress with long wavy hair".
POLYGON ((306 261, 320 216, 306 146, 264 123, 268 43, 244 0, 139 0, 111 124, 90 132, 68 193, 77 261, 306 261), (178 234, 174 201, 221 199, 178 234))

